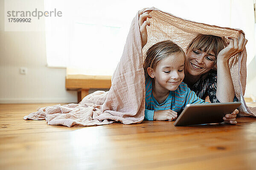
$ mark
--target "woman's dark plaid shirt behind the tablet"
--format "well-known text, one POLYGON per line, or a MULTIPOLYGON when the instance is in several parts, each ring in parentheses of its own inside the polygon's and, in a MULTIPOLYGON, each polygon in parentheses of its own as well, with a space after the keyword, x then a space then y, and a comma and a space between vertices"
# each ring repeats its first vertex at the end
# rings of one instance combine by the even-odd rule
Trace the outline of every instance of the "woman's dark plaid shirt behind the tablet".
MULTIPOLYGON (((216 97, 217 91, 217 71, 211 70, 204 79, 199 79, 192 87, 189 87, 195 94, 201 99, 205 100, 206 96, 209 96, 209 100, 212 103, 220 102, 216 97)), ((238 102, 236 96, 233 102, 238 102)))

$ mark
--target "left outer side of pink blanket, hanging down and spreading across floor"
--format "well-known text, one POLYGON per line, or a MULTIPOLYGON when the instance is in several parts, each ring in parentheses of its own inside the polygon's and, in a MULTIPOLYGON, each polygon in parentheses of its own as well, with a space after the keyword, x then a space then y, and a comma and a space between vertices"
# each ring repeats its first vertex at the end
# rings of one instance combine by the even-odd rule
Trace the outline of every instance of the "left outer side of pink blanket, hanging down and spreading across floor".
POLYGON ((79 104, 40 108, 24 119, 46 119, 48 125, 92 126, 113 122, 140 123, 145 110, 145 77, 140 39, 139 14, 132 21, 122 57, 109 91, 96 91, 79 104))

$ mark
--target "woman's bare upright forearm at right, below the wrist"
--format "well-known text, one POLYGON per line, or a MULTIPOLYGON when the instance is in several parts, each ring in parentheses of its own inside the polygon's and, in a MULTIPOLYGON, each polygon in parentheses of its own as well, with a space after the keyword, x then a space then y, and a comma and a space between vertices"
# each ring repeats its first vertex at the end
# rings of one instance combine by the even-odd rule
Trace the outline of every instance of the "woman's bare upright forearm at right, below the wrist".
POLYGON ((233 102, 234 96, 235 90, 228 62, 218 59, 216 97, 220 102, 233 102))

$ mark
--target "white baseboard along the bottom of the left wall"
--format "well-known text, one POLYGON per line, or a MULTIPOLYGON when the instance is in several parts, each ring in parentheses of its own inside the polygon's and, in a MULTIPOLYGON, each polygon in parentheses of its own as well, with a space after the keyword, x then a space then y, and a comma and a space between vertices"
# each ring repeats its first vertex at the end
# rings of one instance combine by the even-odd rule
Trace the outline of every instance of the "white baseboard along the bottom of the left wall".
POLYGON ((0 99, 0 104, 7 103, 77 103, 76 99, 70 98, 19 98, 19 99, 0 99))

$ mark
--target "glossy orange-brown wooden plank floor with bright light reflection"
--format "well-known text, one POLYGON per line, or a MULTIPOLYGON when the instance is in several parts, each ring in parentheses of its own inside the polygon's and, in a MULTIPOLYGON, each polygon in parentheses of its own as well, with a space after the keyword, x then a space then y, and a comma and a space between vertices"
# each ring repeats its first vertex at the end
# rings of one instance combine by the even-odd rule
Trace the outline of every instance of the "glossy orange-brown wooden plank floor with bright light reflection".
POLYGON ((0 105, 1 170, 255 170, 256 118, 238 125, 174 122, 64 127, 23 116, 38 106, 0 105))

